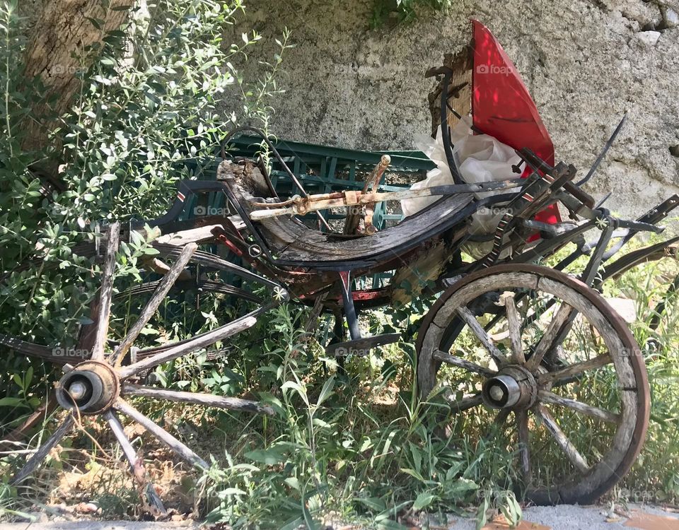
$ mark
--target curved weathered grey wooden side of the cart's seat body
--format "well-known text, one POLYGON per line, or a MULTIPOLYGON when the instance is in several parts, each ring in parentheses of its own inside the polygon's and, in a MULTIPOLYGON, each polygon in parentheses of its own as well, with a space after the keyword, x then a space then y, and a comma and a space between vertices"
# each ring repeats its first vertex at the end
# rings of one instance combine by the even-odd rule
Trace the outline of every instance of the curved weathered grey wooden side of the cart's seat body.
MULTIPOLYGON (((232 200, 238 201, 245 213, 253 210, 252 202, 271 201, 275 197, 265 175, 247 161, 240 165, 224 160, 217 178, 226 182, 232 200)), ((391 228, 348 240, 308 228, 294 216, 246 222, 265 240, 280 266, 347 271, 397 259, 426 240, 455 228, 475 211, 472 202, 472 194, 446 196, 391 228)))

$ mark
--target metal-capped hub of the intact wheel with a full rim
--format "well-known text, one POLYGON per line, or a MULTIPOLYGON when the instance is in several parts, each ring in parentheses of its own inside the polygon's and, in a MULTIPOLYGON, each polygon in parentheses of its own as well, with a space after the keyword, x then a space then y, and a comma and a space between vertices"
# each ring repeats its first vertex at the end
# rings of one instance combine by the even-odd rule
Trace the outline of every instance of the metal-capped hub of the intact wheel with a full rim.
POLYGON ((538 396, 538 384, 526 368, 507 366, 484 382, 481 396, 490 408, 528 408, 538 396))

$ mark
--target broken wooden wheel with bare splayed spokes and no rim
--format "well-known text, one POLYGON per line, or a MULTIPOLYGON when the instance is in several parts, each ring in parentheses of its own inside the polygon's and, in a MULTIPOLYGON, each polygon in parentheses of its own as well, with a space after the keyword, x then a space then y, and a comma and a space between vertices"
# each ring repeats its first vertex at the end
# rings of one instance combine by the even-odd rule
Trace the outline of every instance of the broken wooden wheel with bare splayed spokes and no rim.
MULTIPOLYGON (((92 416, 103 420, 115 436, 122 449, 122 454, 129 462, 134 478, 143 488, 148 507, 152 512, 164 512, 163 504, 156 490, 149 483, 144 470, 143 459, 137 455, 131 442, 123 432, 122 417, 138 423, 148 432, 169 447, 181 459, 192 466, 207 468, 207 462, 199 457, 175 436, 144 416, 130 401, 137 397, 159 401, 172 401, 180 404, 194 404, 208 407, 225 408, 250 413, 272 414, 272 408, 257 401, 236 397, 216 396, 205 393, 173 391, 139 384, 140 376, 158 365, 176 360, 189 353, 204 350, 218 341, 238 334, 250 328, 257 317, 267 310, 279 305, 287 299, 282 288, 262 276, 230 262, 197 250, 195 243, 184 247, 156 245, 161 251, 166 273, 160 281, 147 281, 141 285, 114 294, 113 278, 116 252, 120 244, 120 225, 110 226, 106 240, 105 256, 101 271, 101 285, 96 299, 93 324, 81 330, 78 345, 65 355, 58 344, 38 345, 23 341, 21 338, 0 336, 0 342, 10 346, 18 353, 38 357, 54 363, 64 363, 64 375, 59 379, 55 389, 60 418, 59 426, 52 435, 37 449, 35 454, 25 462, 23 467, 11 478, 11 483, 19 484, 30 476, 42 461, 66 435, 79 425, 83 416, 92 416), (226 271, 239 276, 248 287, 236 288, 216 281, 209 276, 210 271, 226 271), (187 277, 200 273, 204 280, 200 287, 211 293, 219 293, 243 302, 241 316, 232 315, 231 321, 214 329, 199 333, 173 343, 158 346, 144 339, 142 331, 154 315, 168 300, 170 290, 181 288, 182 282, 195 286, 195 282, 187 281, 187 277), (268 300, 252 293, 253 285, 260 290, 269 290, 272 296, 268 300), (145 297, 145 295, 148 295, 145 297), (118 300, 118 303, 116 302, 118 300), (124 307, 129 312, 129 302, 137 304, 131 314, 121 316, 116 309, 124 307), (141 346, 137 348, 135 346, 141 346), (146 346, 146 347, 144 347, 146 346), (55 351, 61 353, 55 354, 55 351), (81 353, 87 352, 85 359, 81 353), (76 352, 76 355, 72 355, 76 352)), ((239 302, 238 305, 241 305, 239 302)))

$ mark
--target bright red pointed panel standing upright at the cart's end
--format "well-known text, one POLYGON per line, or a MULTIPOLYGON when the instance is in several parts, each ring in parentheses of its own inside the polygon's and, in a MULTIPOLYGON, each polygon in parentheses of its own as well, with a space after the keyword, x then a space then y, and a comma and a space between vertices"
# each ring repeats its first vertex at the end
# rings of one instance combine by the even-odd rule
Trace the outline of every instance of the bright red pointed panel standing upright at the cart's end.
MULTIPOLYGON (((554 145, 516 66, 490 30, 478 20, 472 20, 472 31, 474 125, 515 149, 530 148, 542 160, 554 165, 554 145)), ((538 213, 535 219, 545 223, 561 220, 556 205, 538 213)))

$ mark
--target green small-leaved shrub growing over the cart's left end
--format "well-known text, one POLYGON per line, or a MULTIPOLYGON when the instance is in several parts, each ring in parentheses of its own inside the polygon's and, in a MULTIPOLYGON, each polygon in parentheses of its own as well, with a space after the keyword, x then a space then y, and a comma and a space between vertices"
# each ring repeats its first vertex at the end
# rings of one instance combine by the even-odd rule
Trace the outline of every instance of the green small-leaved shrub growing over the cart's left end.
MULTIPOLYGON (((228 129, 267 124, 287 34, 272 63, 262 64, 262 78, 247 81, 233 64, 247 59, 260 35, 243 32, 231 45, 223 36, 243 11, 240 0, 157 0, 149 9, 135 11, 132 23, 83 50, 98 59, 77 73, 78 93, 55 121, 34 114, 45 90, 39 80, 23 77, 24 28, 16 0, 0 2, 3 334, 72 346, 79 326, 89 322, 88 302, 100 281, 99 265, 79 255, 77 245, 93 240, 101 223, 160 216, 178 179, 194 177, 200 163, 214 158, 228 129), (31 120, 58 124, 49 131, 56 153, 49 146, 23 148, 31 120), (59 160, 64 191, 45 196, 33 167, 47 157, 59 160)), ((134 281, 138 260, 152 251, 141 236, 123 242, 117 285, 134 281)), ((0 399, 17 393, 13 378, 28 363, 11 353, 0 356, 0 399)), ((45 371, 38 370, 41 364, 35 363, 36 375, 45 371)), ((16 425, 25 412, 4 413, 4 427, 16 425)))

